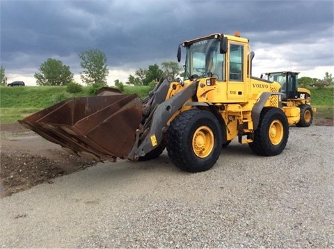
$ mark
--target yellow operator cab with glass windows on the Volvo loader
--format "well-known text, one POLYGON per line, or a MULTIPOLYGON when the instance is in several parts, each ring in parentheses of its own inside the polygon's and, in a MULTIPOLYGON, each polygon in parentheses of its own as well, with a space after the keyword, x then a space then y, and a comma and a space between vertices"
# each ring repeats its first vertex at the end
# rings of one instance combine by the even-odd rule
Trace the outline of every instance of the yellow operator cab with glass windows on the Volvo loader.
POLYGON ((186 49, 184 83, 205 79, 207 86, 218 86, 215 102, 247 102, 250 74, 248 40, 239 35, 216 33, 182 42, 186 49), (218 90, 220 89, 220 90, 218 90))

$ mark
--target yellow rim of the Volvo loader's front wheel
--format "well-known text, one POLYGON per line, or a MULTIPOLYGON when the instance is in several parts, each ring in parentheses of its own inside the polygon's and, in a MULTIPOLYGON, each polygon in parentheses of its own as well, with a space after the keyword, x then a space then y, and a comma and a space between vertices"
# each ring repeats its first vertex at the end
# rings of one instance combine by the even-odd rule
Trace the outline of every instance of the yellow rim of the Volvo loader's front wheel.
POLYGON ((203 125, 193 134, 193 152, 200 158, 207 157, 214 149, 214 133, 203 125))

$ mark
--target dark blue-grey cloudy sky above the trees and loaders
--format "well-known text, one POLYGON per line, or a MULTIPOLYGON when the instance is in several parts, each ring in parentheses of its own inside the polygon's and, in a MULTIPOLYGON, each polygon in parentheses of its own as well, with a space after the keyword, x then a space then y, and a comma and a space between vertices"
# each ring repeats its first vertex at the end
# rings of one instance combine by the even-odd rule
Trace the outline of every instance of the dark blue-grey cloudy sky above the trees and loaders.
POLYGON ((148 65, 177 61, 177 47, 211 33, 239 31, 255 51, 253 75, 294 70, 334 74, 334 1, 0 0, 1 65, 8 83, 24 80, 47 58, 70 66, 78 54, 104 51, 109 86, 148 65))

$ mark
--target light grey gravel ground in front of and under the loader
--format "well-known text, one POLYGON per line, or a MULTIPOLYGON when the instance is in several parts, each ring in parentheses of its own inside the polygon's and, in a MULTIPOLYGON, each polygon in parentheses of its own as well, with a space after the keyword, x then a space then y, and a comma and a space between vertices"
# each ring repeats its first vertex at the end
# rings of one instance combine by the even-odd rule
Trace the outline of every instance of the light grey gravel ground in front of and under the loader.
POLYGON ((0 200, 2 248, 334 248, 334 127, 290 128, 261 157, 237 141, 191 174, 97 166, 0 200))

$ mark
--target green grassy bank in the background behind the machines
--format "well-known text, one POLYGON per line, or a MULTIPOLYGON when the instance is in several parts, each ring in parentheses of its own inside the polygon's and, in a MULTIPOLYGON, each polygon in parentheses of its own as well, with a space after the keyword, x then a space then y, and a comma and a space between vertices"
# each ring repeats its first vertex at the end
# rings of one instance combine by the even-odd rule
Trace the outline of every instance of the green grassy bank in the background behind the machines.
MULTIPOLYGON (((136 93, 143 98, 148 95, 150 86, 125 86, 124 94, 136 93)), ((333 118, 334 88, 309 88, 312 94, 312 107, 317 108, 317 116, 333 118)), ((84 87, 81 93, 70 95, 65 86, 25 86, 0 87, 0 122, 13 123, 28 115, 56 104, 68 97, 90 95, 90 88, 84 87)))

